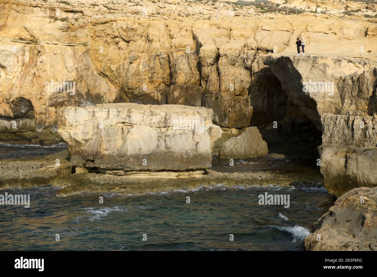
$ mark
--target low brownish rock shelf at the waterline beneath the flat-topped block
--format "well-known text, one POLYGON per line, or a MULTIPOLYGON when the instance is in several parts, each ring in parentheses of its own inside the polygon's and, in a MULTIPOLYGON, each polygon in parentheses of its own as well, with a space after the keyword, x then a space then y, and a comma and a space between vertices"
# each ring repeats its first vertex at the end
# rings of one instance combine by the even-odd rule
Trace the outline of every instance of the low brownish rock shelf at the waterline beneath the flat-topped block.
MULTIPOLYGON (((271 153, 270 159, 285 160, 281 154, 271 153), (276 158, 276 156, 280 158, 276 158)), ((0 182, 0 188, 24 188, 27 186, 43 186, 52 184, 60 188, 58 196, 69 196, 80 193, 105 193, 143 195, 150 192, 173 191, 177 189, 196 189, 199 186, 291 186, 297 184, 300 177, 303 182, 316 182, 321 176, 315 168, 299 166, 295 170, 284 168, 273 171, 249 171, 247 163, 244 169, 233 170, 228 160, 213 157, 221 166, 198 171, 129 171, 120 176, 113 172, 88 172, 83 167, 69 165, 67 151, 37 158, 0 160, 0 168, 6 170, 0 182), (60 165, 57 165, 59 159, 60 165), (17 164, 17 167, 15 167, 17 164), (225 167, 224 167, 225 166, 225 167), (306 174, 300 173, 305 171, 306 174), (39 179, 36 179, 36 177, 39 179)), ((258 158, 249 159, 250 163, 261 163, 258 158)), ((240 160, 242 161, 242 160, 240 160)), ((237 162, 237 160, 235 160, 237 162)), ((90 171, 90 170, 89 170, 90 171)))

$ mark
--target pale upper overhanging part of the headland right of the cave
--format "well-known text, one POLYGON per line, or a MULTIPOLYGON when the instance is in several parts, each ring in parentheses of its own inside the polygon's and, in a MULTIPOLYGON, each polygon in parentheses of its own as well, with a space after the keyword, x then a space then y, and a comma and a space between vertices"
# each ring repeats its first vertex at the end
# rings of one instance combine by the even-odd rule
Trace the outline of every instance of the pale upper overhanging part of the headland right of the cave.
POLYGON ((282 88, 321 129, 321 117, 373 116, 377 62, 344 56, 267 56, 282 88), (305 90, 305 91, 304 91, 305 90))

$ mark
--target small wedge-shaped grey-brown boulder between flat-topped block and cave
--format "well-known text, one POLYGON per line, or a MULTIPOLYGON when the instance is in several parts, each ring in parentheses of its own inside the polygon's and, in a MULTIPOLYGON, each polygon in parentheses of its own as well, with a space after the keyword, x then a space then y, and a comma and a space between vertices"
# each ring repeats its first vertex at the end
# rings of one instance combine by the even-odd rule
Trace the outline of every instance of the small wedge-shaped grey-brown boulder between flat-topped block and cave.
POLYGON ((267 143, 257 127, 249 127, 241 135, 230 138, 220 146, 220 159, 242 159, 268 153, 267 143))

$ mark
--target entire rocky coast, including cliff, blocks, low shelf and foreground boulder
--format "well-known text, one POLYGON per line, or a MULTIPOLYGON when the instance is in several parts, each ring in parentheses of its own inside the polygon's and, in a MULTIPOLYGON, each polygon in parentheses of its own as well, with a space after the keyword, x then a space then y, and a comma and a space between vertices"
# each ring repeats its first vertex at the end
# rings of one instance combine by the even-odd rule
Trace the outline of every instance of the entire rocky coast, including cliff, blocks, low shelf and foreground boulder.
POLYGON ((0 0, 0 142, 68 147, 0 160, 0 189, 323 180, 338 199, 303 247, 377 250, 377 3, 343 2, 0 0))

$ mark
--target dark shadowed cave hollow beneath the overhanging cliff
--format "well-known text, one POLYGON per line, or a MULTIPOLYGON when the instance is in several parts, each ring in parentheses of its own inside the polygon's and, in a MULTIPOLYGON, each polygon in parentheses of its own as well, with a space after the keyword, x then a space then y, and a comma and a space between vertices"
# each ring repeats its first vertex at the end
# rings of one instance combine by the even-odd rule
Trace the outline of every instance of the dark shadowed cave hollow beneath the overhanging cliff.
POLYGON ((250 126, 258 127, 270 153, 317 159, 317 146, 322 144, 320 117, 314 100, 301 95, 297 99, 285 91, 269 67, 257 71, 250 85, 250 126))

